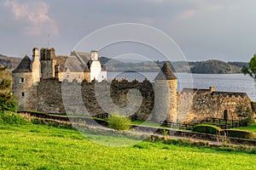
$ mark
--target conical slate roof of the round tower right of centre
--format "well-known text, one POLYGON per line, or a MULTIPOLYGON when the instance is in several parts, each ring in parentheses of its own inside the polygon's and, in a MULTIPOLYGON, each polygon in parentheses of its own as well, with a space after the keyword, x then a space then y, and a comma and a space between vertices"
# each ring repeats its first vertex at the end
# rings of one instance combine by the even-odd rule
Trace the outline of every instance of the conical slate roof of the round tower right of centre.
POLYGON ((177 80, 177 77, 174 75, 167 62, 165 62, 165 64, 161 68, 161 71, 154 78, 154 80, 177 80))

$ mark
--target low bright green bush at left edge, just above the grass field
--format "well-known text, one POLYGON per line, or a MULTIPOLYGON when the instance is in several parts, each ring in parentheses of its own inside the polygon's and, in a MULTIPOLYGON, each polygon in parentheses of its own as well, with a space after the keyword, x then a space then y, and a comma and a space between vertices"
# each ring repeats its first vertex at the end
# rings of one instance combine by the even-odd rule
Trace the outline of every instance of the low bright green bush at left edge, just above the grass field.
POLYGON ((0 113, 0 124, 26 124, 28 121, 17 113, 5 111, 0 113))

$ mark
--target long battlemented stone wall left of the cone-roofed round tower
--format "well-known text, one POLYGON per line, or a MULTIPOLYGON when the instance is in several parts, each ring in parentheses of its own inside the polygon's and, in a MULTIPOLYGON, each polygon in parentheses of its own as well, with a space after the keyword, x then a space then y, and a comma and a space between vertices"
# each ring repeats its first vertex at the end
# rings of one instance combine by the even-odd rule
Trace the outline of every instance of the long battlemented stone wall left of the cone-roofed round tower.
POLYGON ((121 111, 145 120, 153 106, 154 89, 149 81, 79 83, 41 79, 38 86, 38 111, 90 116, 121 111))

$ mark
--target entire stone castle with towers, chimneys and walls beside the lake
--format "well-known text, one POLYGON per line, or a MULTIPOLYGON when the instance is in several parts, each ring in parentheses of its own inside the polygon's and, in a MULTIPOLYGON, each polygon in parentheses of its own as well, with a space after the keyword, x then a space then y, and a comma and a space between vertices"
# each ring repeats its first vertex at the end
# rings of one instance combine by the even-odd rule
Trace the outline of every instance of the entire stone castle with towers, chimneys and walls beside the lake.
POLYGON ((154 82, 147 79, 108 82, 107 68, 99 61, 98 53, 91 51, 86 55, 88 61, 74 51, 68 57, 56 55, 54 48, 41 48, 39 56, 38 48, 33 48, 32 59, 26 55, 12 74, 18 109, 49 113, 71 111, 90 116, 120 109, 129 116, 136 115, 139 120, 186 123, 200 122, 207 117, 237 119, 238 105, 251 110, 251 100, 245 93, 217 92, 214 87, 184 88, 177 92, 177 77, 167 63, 154 82), (70 92, 64 94, 65 86, 70 92), (100 93, 96 87, 102 89, 100 93), (134 89, 136 93, 131 93, 134 89))

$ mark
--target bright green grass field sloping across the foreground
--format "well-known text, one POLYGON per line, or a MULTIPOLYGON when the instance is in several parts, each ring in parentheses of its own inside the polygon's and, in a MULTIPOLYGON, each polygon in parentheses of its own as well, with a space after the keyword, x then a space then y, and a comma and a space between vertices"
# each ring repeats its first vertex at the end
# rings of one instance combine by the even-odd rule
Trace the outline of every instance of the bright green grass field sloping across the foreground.
POLYGON ((0 125, 0 169, 255 169, 256 155, 142 142, 109 147, 73 129, 0 125))

